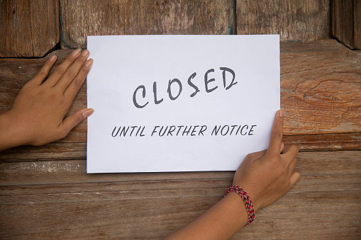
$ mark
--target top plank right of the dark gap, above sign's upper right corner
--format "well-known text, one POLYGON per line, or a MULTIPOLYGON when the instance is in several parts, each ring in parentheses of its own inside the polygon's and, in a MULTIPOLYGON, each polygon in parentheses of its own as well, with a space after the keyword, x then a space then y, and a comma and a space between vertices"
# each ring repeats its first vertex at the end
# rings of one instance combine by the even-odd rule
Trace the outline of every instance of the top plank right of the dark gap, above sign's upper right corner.
POLYGON ((279 34, 281 41, 330 38, 329 0, 237 1, 238 34, 279 34))

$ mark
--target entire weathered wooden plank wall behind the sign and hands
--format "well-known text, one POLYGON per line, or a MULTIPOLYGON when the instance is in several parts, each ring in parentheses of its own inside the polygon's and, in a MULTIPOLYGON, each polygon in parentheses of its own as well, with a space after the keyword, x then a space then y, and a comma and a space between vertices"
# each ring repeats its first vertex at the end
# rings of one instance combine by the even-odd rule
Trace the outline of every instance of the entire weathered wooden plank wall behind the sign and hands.
MULTIPOLYGON (((60 32, 63 48, 86 48, 87 35, 279 33, 284 142, 301 150, 301 181, 233 239, 361 239, 361 52, 323 40, 330 4, 345 16, 336 1, 3 0, 0 57, 41 57, 60 32), (321 41, 289 42, 311 40, 321 41)), ((341 29, 354 42, 356 23, 341 29)), ((50 55, 59 64, 70 52, 50 55)), ((0 113, 48 57, 0 59, 0 113)), ((86 89, 71 113, 86 107, 86 89)), ((87 174, 86 136, 84 121, 55 143, 0 152, 0 239, 161 239, 232 182, 231 171, 87 174)))

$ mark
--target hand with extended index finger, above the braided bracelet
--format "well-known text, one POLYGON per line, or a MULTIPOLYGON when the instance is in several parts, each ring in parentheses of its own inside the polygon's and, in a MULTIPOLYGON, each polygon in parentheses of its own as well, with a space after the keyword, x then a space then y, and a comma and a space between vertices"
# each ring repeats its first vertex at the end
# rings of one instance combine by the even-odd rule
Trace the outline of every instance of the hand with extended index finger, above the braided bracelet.
POLYGON ((281 198, 300 178, 299 172, 294 171, 299 149, 295 145, 284 148, 282 143, 283 120, 279 110, 268 149, 248 154, 233 178, 233 185, 248 193, 255 211, 281 198))

